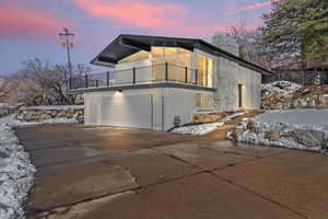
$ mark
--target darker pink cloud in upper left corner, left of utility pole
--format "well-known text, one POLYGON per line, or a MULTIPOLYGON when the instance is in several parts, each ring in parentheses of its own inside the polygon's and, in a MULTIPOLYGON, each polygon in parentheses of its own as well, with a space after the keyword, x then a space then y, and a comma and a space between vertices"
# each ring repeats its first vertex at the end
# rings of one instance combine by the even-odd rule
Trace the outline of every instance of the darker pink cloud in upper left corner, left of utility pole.
POLYGON ((50 39, 57 37, 62 26, 70 25, 39 11, 0 5, 0 38, 50 39))

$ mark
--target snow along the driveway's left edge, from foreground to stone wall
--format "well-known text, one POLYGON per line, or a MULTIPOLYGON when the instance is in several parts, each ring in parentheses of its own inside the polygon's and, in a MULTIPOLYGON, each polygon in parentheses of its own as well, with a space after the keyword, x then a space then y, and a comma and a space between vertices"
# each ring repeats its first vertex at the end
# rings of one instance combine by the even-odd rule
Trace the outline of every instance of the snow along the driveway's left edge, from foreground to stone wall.
POLYGON ((35 166, 13 131, 13 127, 55 123, 77 123, 74 118, 52 118, 23 123, 15 115, 0 118, 0 219, 24 218, 22 204, 34 184, 35 166))

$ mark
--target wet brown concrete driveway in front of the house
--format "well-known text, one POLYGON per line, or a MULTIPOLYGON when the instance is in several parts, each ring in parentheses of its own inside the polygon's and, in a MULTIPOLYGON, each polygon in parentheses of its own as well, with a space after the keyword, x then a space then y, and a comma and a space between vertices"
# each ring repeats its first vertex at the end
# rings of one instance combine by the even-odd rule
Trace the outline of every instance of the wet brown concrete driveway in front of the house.
POLYGON ((16 129, 27 218, 327 218, 328 157, 78 124, 16 129))

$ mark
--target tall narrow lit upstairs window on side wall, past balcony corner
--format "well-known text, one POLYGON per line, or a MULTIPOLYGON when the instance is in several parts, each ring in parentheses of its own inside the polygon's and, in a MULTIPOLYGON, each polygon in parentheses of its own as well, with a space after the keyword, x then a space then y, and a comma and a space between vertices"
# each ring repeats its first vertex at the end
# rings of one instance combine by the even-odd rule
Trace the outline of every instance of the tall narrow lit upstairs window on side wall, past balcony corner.
POLYGON ((197 84, 213 87, 213 60, 203 55, 197 56, 197 84))

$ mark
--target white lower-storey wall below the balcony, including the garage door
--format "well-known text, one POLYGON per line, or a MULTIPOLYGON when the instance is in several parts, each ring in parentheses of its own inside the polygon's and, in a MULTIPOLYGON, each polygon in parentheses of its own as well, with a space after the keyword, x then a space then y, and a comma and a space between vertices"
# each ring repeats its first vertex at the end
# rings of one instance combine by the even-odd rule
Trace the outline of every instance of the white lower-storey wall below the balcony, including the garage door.
MULTIPOLYGON (((186 124, 192 122, 195 113, 203 111, 196 106, 196 95, 199 93, 212 94, 210 91, 180 88, 133 89, 122 91, 119 95, 117 91, 85 93, 84 123, 85 125, 138 127, 138 124, 144 122, 152 123, 152 126, 142 128, 167 130, 174 126, 175 116, 179 116, 181 124, 186 124), (110 117, 114 105, 120 108, 121 114, 110 117)), ((213 108, 207 108, 207 112, 213 112, 213 108)))

